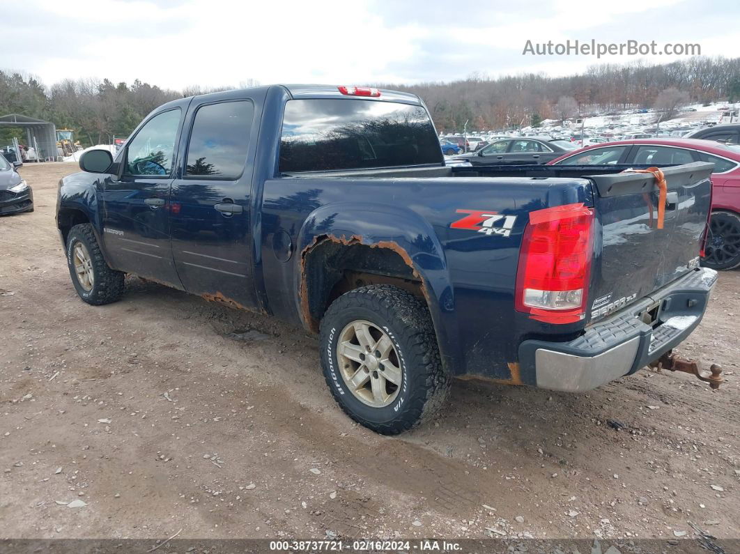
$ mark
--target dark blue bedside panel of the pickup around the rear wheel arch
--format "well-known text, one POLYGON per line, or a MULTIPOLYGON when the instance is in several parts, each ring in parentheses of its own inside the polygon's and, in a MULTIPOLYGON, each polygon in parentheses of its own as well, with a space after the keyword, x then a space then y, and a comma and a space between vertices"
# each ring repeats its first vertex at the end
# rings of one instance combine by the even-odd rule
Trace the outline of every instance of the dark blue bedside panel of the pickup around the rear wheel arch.
MULTIPOLYGON (((554 331, 514 311, 519 246, 528 213, 565 203, 591 204, 591 195, 585 179, 266 180, 262 262, 270 311, 304 322, 300 254, 317 237, 393 243, 406 252, 427 289, 448 368, 455 374, 522 382, 516 363, 519 342, 554 331), (508 236, 451 228, 471 211, 516 219, 508 236), (286 233, 294 245, 285 263, 272 251, 278 233, 286 233)), ((560 327, 559 332, 568 335, 582 324, 560 327)))

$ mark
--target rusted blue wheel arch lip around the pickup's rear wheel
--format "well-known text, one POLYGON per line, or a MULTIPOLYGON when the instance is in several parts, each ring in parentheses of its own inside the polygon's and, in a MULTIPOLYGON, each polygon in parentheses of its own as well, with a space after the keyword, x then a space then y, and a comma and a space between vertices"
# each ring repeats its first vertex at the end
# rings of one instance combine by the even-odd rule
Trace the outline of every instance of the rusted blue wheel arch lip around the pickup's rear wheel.
POLYGON ((451 372, 462 367, 454 312, 454 289, 445 253, 433 227, 416 212, 382 203, 332 203, 309 214, 297 237, 296 302, 303 324, 310 328, 310 316, 303 303, 306 254, 323 240, 363 244, 390 249, 399 254, 420 278, 443 363, 451 372))

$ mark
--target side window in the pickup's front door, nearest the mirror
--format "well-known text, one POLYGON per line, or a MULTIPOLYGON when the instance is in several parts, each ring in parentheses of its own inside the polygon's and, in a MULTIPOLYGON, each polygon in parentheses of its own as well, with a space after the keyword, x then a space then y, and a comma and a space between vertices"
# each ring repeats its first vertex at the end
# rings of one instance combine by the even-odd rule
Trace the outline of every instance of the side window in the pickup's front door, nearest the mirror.
POLYGON ((129 142, 126 175, 169 175, 181 110, 171 109, 155 115, 129 142))

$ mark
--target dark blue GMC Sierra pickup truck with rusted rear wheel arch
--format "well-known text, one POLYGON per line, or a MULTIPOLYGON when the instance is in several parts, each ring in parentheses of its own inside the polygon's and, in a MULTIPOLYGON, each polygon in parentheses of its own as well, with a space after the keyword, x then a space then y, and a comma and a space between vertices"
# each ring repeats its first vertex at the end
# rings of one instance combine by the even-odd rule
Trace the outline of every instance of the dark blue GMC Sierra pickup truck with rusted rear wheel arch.
POLYGON ((87 303, 135 274, 319 335, 334 398, 400 433, 451 376, 588 391, 699 325, 712 164, 445 166, 417 96, 270 86, 155 109, 59 185, 87 303))

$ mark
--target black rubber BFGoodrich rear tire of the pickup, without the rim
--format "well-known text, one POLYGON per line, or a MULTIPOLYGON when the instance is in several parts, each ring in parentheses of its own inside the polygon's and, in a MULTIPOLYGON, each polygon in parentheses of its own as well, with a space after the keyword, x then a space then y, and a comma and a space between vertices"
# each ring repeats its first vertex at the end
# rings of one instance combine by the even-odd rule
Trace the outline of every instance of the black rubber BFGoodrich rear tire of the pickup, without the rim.
POLYGON ((321 320, 320 354, 334 399, 354 421, 377 433, 394 435, 419 425, 440 408, 449 388, 428 309, 394 286, 357 288, 334 300, 321 320), (354 396, 337 366, 340 333, 354 321, 381 329, 397 354, 402 382, 392 402, 382 408, 354 396))

